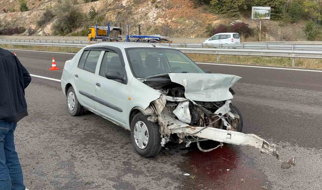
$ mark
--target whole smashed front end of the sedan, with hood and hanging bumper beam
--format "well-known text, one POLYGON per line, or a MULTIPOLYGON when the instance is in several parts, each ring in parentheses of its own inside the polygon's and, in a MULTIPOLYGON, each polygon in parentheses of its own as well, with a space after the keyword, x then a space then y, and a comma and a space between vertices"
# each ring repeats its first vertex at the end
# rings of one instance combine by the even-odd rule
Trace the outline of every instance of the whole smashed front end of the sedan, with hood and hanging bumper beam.
MULTIPOLYGON (((242 77, 226 74, 169 73, 141 79, 161 93, 146 108, 148 120, 160 125, 161 144, 168 141, 197 142, 201 151, 209 152, 223 143, 251 146, 279 159, 276 145, 254 134, 242 133, 242 115, 232 104, 231 86, 242 77), (220 142, 212 149, 202 149, 199 142, 220 142)), ((295 165, 295 158, 282 168, 295 165), (286 166, 287 165, 287 166, 286 166)))

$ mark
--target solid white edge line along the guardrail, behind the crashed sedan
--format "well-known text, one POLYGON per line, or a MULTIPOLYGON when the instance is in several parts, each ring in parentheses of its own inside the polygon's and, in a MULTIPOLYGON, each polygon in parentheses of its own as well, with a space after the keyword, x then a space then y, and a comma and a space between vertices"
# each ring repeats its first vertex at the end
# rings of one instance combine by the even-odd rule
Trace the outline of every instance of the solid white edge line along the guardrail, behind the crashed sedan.
MULTIPOLYGON (((6 49, 6 50, 16 50, 16 49, 6 49)), ((18 50, 18 51, 35 51, 35 50, 18 50)), ((64 53, 64 52, 52 52, 52 51, 36 51, 36 52, 63 53, 63 54, 74 54, 74 55, 76 54, 76 53, 64 53)), ((308 70, 308 69, 296 69, 296 68, 278 68, 278 67, 251 66, 251 65, 231 65, 231 64, 201 63, 201 62, 195 62, 195 63, 204 64, 204 65, 223 65, 223 66, 235 66, 235 67, 271 68, 271 69, 281 69, 281 70, 322 72, 322 70, 308 70)))

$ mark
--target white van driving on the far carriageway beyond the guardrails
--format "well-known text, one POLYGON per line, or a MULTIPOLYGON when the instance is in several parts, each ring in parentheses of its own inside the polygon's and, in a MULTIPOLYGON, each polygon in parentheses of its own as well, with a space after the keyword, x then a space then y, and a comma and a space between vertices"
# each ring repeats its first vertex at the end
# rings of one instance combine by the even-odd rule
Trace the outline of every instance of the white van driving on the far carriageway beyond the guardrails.
POLYGON ((225 43, 240 43, 239 33, 219 33, 213 35, 208 40, 205 40, 203 44, 225 44, 225 43))

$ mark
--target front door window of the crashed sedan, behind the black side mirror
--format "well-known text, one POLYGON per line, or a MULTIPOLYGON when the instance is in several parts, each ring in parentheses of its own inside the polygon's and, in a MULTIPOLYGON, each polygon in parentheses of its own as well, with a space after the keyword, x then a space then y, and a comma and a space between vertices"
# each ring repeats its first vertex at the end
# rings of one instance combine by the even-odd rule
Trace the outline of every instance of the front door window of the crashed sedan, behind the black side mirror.
POLYGON ((115 51, 106 51, 104 53, 99 75, 105 77, 108 71, 118 71, 121 75, 125 75, 125 68, 122 66, 121 59, 115 51))

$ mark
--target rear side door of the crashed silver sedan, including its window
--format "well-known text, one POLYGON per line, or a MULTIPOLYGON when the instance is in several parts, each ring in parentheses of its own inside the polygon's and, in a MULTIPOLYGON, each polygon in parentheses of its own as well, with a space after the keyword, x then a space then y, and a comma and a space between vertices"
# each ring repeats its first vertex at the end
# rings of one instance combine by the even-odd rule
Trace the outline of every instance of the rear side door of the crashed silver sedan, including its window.
POLYGON ((94 82, 95 70, 101 50, 84 50, 77 67, 74 69, 73 77, 75 90, 78 92, 78 100, 82 105, 95 109, 94 82))

